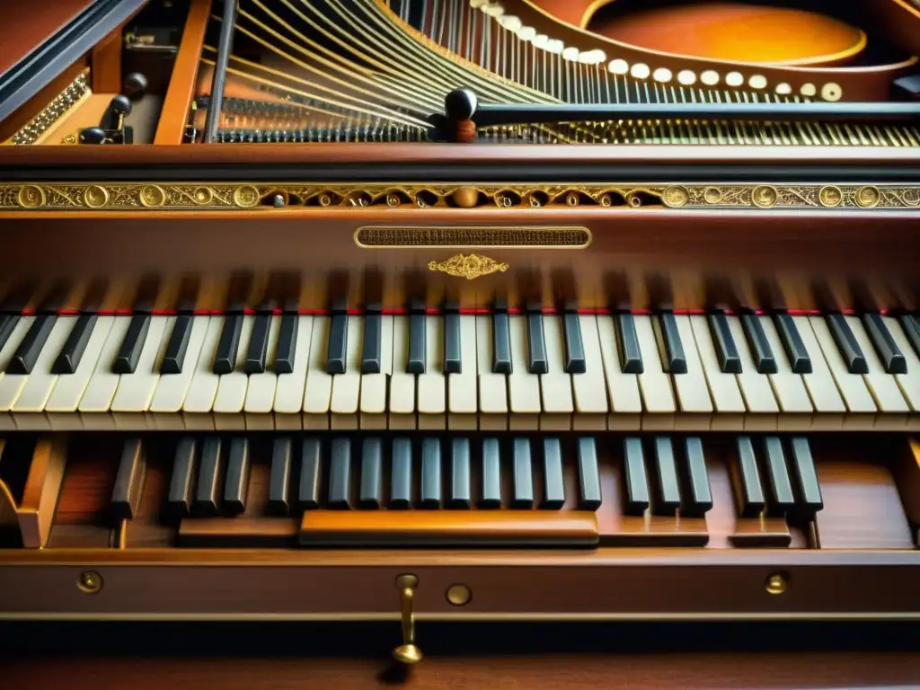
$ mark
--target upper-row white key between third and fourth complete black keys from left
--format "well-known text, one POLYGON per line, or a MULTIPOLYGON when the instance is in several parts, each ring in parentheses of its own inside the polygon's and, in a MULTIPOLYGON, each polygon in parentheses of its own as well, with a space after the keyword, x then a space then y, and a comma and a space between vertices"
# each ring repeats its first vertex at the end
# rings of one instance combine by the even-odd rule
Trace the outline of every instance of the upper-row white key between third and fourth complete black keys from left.
MULTIPOLYGON (((121 376, 115 397, 112 398, 111 411, 118 429, 132 431, 148 428, 145 413, 153 401, 160 367, 175 323, 175 316, 150 317, 150 327, 134 373, 121 376)), ((150 421, 153 422, 153 418, 150 421)))

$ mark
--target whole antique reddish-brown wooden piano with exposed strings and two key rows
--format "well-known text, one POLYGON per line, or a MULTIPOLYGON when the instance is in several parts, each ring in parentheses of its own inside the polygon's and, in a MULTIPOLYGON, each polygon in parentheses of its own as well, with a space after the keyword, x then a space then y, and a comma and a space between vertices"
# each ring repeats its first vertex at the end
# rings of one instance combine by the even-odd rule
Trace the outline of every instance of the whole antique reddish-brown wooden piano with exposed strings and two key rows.
POLYGON ((48 5, 3 10, 0 616, 407 662, 920 617, 914 3, 728 57, 597 3, 48 5))

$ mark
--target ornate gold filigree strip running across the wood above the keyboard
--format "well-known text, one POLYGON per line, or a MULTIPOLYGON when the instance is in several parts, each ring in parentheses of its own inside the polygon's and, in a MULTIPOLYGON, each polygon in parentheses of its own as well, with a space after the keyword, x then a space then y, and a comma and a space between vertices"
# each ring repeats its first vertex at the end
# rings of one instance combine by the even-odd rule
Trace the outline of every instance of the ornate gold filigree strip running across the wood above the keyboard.
POLYGON ((906 209, 916 185, 443 184, 213 182, 0 184, 0 211, 239 211, 256 208, 906 209))

